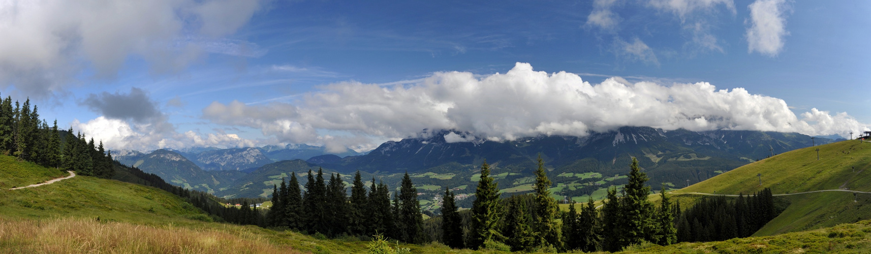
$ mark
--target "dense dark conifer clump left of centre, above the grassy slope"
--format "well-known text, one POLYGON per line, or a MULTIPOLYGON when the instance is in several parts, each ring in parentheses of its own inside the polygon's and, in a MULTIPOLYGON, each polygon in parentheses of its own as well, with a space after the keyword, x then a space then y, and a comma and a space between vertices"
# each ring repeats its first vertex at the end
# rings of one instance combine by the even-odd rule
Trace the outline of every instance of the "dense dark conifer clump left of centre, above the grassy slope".
POLYGON ((348 197, 341 175, 330 174, 327 182, 323 170, 317 174, 309 170, 305 191, 301 191, 296 174, 291 173, 289 182, 282 178, 280 185, 273 186, 267 225, 328 237, 383 234, 406 243, 429 240, 422 233, 417 189, 408 173, 402 178, 399 192, 394 193, 393 202, 389 190, 383 182, 375 184, 375 178, 367 189, 357 171, 348 197))

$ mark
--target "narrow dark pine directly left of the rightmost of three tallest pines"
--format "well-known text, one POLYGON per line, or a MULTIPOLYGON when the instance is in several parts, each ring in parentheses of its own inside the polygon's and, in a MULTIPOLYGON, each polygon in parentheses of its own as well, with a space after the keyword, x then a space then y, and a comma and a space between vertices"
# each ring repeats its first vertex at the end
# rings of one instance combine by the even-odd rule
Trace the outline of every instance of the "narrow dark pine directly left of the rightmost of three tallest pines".
POLYGON ((617 188, 608 188, 608 201, 602 206, 602 248, 604 251, 623 249, 623 202, 617 197, 617 188))

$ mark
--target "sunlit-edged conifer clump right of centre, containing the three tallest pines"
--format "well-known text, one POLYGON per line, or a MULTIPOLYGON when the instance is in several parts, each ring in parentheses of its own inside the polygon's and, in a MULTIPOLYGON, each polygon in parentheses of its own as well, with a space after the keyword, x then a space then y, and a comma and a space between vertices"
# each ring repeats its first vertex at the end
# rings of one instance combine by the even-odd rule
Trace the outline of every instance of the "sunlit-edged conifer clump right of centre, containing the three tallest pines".
POLYGON ((541 158, 534 192, 504 199, 490 176, 490 165, 484 163, 468 220, 456 210, 453 193, 445 191, 439 238, 452 248, 506 246, 510 251, 620 251, 645 241, 677 243, 671 198, 663 191, 659 207, 648 202, 651 188, 645 185, 646 174, 634 159, 630 168, 622 195, 618 197, 616 188, 609 190, 601 210, 590 200, 579 212, 574 203, 568 212, 560 212, 550 197, 551 182, 541 158))

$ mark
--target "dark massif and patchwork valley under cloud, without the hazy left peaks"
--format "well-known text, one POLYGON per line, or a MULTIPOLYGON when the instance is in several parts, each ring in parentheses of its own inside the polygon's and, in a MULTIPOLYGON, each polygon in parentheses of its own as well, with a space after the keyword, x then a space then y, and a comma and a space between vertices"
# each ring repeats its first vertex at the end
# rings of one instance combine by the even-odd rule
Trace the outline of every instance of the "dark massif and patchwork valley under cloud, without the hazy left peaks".
MULTIPOLYGON (((355 170, 372 173, 391 187, 398 186, 402 174, 408 171, 415 185, 420 186, 421 198, 428 200, 435 198, 444 187, 458 188, 459 194, 474 191, 478 167, 486 158, 494 168, 493 174, 500 189, 505 195, 512 195, 532 190, 532 170, 541 154, 554 183, 550 190, 554 197, 586 201, 587 197, 604 197, 604 190, 611 185, 625 184, 631 157, 638 157, 639 164, 652 178, 651 184, 666 183, 671 188, 680 188, 685 186, 686 180, 691 184, 698 183, 771 153, 811 145, 810 137, 796 133, 664 131, 646 127, 624 127, 587 137, 447 142, 446 137, 456 140, 457 135, 463 136, 453 131, 439 131, 426 138, 406 138, 381 144, 363 156, 340 158, 324 155, 309 158, 307 162, 268 164, 270 170, 255 170, 260 174, 240 177, 233 187, 218 194, 225 197, 267 195, 267 189, 271 189, 275 179, 282 177, 282 172, 287 176, 289 171, 304 172, 321 166, 347 176, 355 170)), ((816 142, 821 144, 831 140, 817 138, 816 142)), ((463 201, 458 204, 467 205, 463 201)))

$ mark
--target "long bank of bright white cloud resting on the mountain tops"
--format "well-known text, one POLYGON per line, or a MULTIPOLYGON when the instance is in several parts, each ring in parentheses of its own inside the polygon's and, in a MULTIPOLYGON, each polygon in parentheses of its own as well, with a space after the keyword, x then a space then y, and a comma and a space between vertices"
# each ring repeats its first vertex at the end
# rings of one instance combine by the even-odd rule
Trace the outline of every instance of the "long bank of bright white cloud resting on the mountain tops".
POLYGON ((417 137, 424 129, 467 133, 446 137, 454 142, 470 140, 469 135, 490 140, 583 137, 621 126, 841 136, 868 130, 868 124, 846 113, 812 109, 796 116, 785 101, 743 88, 629 84, 622 78, 590 84, 573 73, 534 71, 529 63, 484 77, 450 71, 415 84, 330 84, 298 105, 214 102, 203 110, 203 117, 218 124, 260 128, 282 142, 295 143, 317 142, 314 130, 387 138, 417 137))

